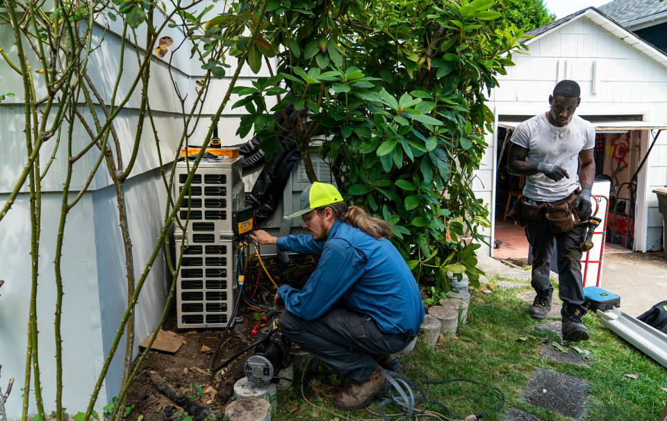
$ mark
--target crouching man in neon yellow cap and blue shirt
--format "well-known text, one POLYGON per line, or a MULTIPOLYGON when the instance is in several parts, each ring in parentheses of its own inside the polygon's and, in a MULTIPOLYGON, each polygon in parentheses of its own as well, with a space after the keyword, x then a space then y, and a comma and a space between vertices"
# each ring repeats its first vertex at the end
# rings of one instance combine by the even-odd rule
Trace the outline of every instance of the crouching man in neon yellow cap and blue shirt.
POLYGON ((381 368, 400 368, 391 354, 419 333, 424 319, 419 288, 388 240, 387 222, 348 207, 331 184, 311 184, 299 204, 290 217, 301 216, 310 236, 252 233, 253 240, 275 244, 279 251, 321 254, 302 290, 278 289, 275 303, 285 308, 281 331, 352 381, 334 396, 334 406, 363 408, 389 387, 381 368))

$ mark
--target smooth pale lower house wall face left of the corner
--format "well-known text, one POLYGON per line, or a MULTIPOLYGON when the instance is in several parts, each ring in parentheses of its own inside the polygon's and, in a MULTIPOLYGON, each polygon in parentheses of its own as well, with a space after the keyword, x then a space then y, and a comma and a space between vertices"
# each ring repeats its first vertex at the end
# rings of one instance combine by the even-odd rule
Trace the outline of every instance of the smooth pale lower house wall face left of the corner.
MULTIPOLYGON (((5 203, 8 195, 0 195, 5 203)), ((37 315, 39 323, 39 356, 42 373, 44 406, 50 412, 55 406, 56 355, 53 313, 56 311, 56 284, 53 272, 53 251, 56 244, 61 196, 47 193, 42 197, 42 223, 39 261, 37 315)), ((0 363, 3 381, 16 379, 14 393, 6 402, 7 415, 18 417, 22 411, 20 388, 24 385, 26 347, 28 346, 28 303, 30 302, 30 220, 28 197, 17 201, 0 222, 0 363)), ((97 381, 103 363, 101 319, 97 282, 97 254, 92 197, 86 195, 72 208, 65 228, 63 247, 63 406, 69 411, 83 411, 97 381)), ((31 379, 31 394, 33 380, 31 379)), ((106 388, 101 390, 101 401, 106 388)), ((34 401, 34 399, 32 399, 34 401)), ((104 406, 102 404, 101 406, 104 406)), ((100 405, 98 405, 98 408, 100 405)), ((37 411, 34 404, 31 413, 37 411)))

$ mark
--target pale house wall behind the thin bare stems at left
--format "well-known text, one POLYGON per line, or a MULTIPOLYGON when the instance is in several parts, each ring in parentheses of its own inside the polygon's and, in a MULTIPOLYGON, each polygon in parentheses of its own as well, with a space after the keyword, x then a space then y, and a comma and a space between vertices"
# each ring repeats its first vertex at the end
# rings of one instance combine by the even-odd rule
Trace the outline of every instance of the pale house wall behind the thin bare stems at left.
MULTIPOLYGON (((213 1, 201 3, 201 9, 213 4, 213 1)), ((224 5, 215 3, 210 17, 222 11, 224 5)), ((157 19, 157 18, 156 18, 157 19)), ((99 24, 106 24, 100 19, 99 24)), ((90 77, 99 90, 99 94, 108 103, 113 90, 116 75, 119 71, 120 33, 118 22, 108 22, 110 30, 104 33, 104 42, 90 56, 88 69, 90 77)), ((96 40, 101 40, 103 31, 95 28, 96 40)), ((160 36, 168 35, 174 40, 170 53, 164 59, 154 55, 151 63, 151 83, 149 84, 150 106, 153 111, 158 138, 160 139, 160 154, 169 170, 174 157, 177 137, 182 131, 182 109, 172 81, 167 72, 167 62, 170 54, 183 39, 183 33, 177 28, 165 28, 160 36)), ((145 39, 142 31, 138 31, 140 40, 145 39)), ((13 35, 8 25, 0 25, 0 41, 3 49, 10 57, 16 56, 16 47, 13 45, 13 35)), ((37 62, 34 57, 33 67, 37 62)), ((191 108, 195 98, 195 81, 201 79, 204 72, 197 59, 190 59, 190 46, 186 44, 174 53, 172 60, 172 76, 181 90, 187 94, 186 112, 191 108)), ((215 113, 224 93, 227 92, 231 75, 236 66, 236 60, 229 60, 232 66, 227 69, 228 75, 223 79, 213 79, 208 98, 202 108, 201 116, 190 138, 190 145, 201 145, 201 142, 211 124, 211 115, 215 113)), ((123 77, 119 85, 116 102, 129 92, 129 88, 138 72, 138 64, 133 51, 128 46, 125 51, 123 77)), ((262 69, 261 76, 269 76, 267 69, 262 69)), ((237 85, 250 85, 256 77, 245 68, 240 74, 237 85)), ((36 76, 39 80, 40 77, 36 76)), ((15 98, 9 98, 0 106, 0 126, 3 135, 0 138, 3 153, 0 154, 0 204, 6 203, 15 182, 26 163, 23 92, 22 81, 3 60, 0 60, 0 93, 13 92, 15 98)), ((43 92, 42 92, 43 94, 43 92)), ((233 145, 243 140, 236 136, 239 117, 245 110, 231 110, 231 104, 236 101, 232 95, 229 105, 224 109, 220 119, 220 137, 223 145, 233 145)), ((272 104, 270 104, 272 105, 272 104)), ((134 140, 135 128, 138 124, 138 108, 140 106, 140 85, 136 88, 131 99, 115 119, 115 129, 120 137, 124 164, 129 160, 134 140)), ((92 126, 92 117, 83 111, 88 123, 92 126)), ((101 107, 97 113, 102 115, 101 107)), ((63 124, 63 130, 67 124, 63 124)), ((252 135, 252 133, 251 133, 252 135)), ((250 136, 250 135, 249 135, 250 136)), ((249 137, 248 136, 248 137, 249 137)), ((74 128, 74 144, 81 148, 90 142, 83 127, 77 123, 74 128)), ((42 151, 42 163, 46 163, 51 156, 54 145, 49 140, 42 151)), ((160 179, 160 162, 154 141, 151 124, 145 119, 142 142, 131 176, 126 182, 126 204, 129 217, 129 226, 133 242, 133 257, 135 274, 140 276, 146 262, 151 255, 156 238, 162 229, 162 219, 165 211, 166 195, 163 182, 160 179)), ((83 187, 97 152, 89 153, 74 166, 72 190, 83 187)), ((55 396, 55 364, 53 360, 53 256, 52 252, 56 238, 56 226, 59 217, 60 195, 66 171, 65 143, 61 142, 60 150, 56 154, 49 176, 42 183, 45 194, 42 198, 42 240, 40 250, 40 288, 39 320, 40 320, 40 370, 42 385, 44 386, 44 405, 49 413, 53 410, 55 396)), ((13 208, 0 222, 0 279, 6 281, 0 290, 0 364, 3 365, 3 379, 15 377, 16 383, 24 382, 23 372, 25 364, 27 303, 30 293, 30 255, 29 238, 30 223, 28 217, 27 182, 22 188, 22 194, 17 197, 13 208)), ((72 210, 68 217, 65 233, 65 254, 63 256, 63 270, 65 282, 65 314, 63 315, 64 336, 64 372, 65 390, 64 406, 68 412, 76 413, 85 409, 92 391, 92 385, 104 363, 104 358, 115 336, 115 331, 124 313, 126 306, 126 278, 122 239, 118 229, 117 204, 115 191, 106 172, 104 163, 94 176, 94 180, 86 193, 72 210)), ((145 283, 145 290, 138 302, 136 310, 136 342, 143 340, 156 326, 162 307, 165 302, 170 279, 167 278, 165 260, 162 253, 156 259, 145 283)), ((123 338, 124 341, 124 338, 123 338)), ((137 352, 135 345, 135 354, 137 352)), ((122 375, 122 354, 124 342, 120 344, 118 355, 114 358, 105 385, 101 390, 96 409, 101 412, 101 406, 110 402, 111 397, 119 392, 122 375)), ((7 411, 10 418, 21 414, 21 400, 17 394, 15 399, 7 402, 7 411)), ((31 406, 31 413, 36 411, 31 406)))

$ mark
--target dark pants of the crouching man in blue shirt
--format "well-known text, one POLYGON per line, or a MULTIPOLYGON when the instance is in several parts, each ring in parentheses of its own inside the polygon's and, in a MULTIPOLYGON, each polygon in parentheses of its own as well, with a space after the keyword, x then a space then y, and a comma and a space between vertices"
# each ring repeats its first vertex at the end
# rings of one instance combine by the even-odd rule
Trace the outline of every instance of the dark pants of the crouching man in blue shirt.
POLYGON ((413 338, 383 333, 370 316, 347 308, 336 308, 316 320, 283 311, 280 330, 354 383, 363 383, 377 368, 373 355, 398 352, 413 338))

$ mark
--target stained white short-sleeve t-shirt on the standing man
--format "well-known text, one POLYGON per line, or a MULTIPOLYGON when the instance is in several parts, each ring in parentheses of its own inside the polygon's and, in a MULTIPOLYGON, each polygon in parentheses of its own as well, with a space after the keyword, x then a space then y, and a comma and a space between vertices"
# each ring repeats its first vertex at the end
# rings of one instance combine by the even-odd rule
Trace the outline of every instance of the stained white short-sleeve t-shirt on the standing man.
POLYGON ((595 128, 578 115, 570 124, 557 127, 540 113, 519 124, 511 142, 528 149, 529 163, 555 164, 566 170, 570 178, 553 181, 541 172, 526 177, 523 195, 537 201, 565 199, 579 188, 579 152, 595 147, 595 128))

